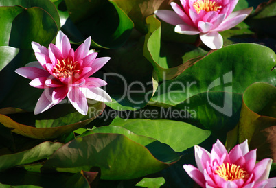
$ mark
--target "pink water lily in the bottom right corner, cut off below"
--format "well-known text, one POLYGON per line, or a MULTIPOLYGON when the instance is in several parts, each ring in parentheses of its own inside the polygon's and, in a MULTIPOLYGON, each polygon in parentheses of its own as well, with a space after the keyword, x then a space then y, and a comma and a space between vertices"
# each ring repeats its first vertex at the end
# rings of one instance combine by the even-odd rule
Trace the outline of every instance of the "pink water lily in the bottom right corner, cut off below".
POLYGON ((256 150, 249 151, 247 140, 229 153, 219 140, 211 153, 198 145, 194 150, 197 168, 183 167, 200 187, 276 187, 276 178, 268 178, 272 159, 265 158, 256 164, 256 150))

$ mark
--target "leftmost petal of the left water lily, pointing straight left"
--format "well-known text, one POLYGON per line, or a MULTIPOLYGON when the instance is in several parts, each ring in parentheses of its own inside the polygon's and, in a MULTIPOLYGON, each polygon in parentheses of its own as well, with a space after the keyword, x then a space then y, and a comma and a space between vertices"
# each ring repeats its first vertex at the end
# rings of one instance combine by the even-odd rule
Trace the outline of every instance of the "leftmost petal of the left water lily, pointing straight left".
POLYGON ((16 69, 15 72, 31 80, 38 77, 48 77, 50 75, 47 71, 36 67, 21 67, 16 69))

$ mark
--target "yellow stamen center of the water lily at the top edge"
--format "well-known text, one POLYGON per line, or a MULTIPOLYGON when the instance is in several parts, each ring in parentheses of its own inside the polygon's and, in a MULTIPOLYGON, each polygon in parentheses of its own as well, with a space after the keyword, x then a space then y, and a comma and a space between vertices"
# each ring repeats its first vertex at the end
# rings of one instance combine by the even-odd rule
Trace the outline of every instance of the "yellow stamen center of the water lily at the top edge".
POLYGON ((209 0, 197 0, 193 3, 194 10, 199 14, 201 10, 209 11, 217 11, 221 8, 221 6, 216 3, 216 1, 209 0))

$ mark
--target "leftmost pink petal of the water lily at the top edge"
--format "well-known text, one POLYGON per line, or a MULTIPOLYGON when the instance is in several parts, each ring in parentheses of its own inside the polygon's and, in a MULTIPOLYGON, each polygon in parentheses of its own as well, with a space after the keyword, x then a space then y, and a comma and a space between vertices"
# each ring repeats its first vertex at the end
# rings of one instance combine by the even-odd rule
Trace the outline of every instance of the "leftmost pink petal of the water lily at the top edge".
POLYGON ((172 10, 156 10, 154 12, 159 19, 170 23, 171 25, 179 25, 183 23, 183 20, 172 10))

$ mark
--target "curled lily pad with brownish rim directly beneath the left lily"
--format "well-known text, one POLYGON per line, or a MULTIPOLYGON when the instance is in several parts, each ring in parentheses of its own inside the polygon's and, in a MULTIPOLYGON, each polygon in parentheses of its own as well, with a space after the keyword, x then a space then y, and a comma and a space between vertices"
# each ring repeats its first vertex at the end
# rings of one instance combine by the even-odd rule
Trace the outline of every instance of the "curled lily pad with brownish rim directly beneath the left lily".
POLYGON ((58 104, 40 115, 33 113, 17 113, 9 116, 0 114, 0 122, 12 128, 12 132, 16 134, 34 139, 50 139, 89 124, 102 113, 104 107, 103 102, 90 104, 89 108, 93 110, 84 116, 78 113, 71 104, 58 104))

